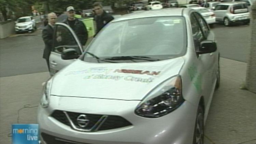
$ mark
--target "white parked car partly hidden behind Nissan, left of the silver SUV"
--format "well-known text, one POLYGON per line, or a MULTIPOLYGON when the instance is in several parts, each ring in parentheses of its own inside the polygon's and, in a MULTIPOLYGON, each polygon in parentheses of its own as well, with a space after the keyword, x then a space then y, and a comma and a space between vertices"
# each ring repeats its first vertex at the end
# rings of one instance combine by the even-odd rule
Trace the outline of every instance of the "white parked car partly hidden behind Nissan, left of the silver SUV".
POLYGON ((213 26, 214 23, 216 23, 216 17, 214 12, 203 7, 193 7, 191 9, 199 12, 206 20, 207 24, 209 24, 211 27, 213 26))

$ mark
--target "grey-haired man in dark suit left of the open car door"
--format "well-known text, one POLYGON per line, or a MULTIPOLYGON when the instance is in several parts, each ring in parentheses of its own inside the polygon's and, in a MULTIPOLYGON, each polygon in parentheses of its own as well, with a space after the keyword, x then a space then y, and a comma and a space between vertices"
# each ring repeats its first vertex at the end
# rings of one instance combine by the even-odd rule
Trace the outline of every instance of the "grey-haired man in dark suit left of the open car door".
POLYGON ((54 32, 54 25, 56 23, 56 18, 57 16, 55 13, 49 13, 48 24, 43 28, 43 31, 42 31, 42 38, 45 44, 43 58, 46 60, 49 71, 50 71, 49 57, 53 47, 53 32, 54 32))

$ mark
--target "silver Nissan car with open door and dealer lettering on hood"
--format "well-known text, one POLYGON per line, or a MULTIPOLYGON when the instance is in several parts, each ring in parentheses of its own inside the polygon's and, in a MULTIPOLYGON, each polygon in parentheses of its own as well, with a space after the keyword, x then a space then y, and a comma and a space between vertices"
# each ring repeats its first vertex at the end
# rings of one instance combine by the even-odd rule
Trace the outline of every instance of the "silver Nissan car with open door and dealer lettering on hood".
POLYGON ((215 36, 198 12, 124 15, 85 50, 57 23, 50 62, 40 143, 203 144, 220 78, 215 36))

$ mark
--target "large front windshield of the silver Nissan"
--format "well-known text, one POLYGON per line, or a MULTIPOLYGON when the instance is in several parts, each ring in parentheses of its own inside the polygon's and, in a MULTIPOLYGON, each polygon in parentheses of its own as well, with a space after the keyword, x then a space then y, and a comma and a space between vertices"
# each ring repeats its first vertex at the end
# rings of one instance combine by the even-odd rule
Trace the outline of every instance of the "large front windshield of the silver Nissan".
MULTIPOLYGON (((86 51, 100 59, 143 56, 165 60, 184 55, 186 46, 187 34, 184 17, 168 16, 111 23, 104 27, 86 51)), ((87 62, 96 60, 97 62, 94 56, 86 52, 84 60, 87 62)))

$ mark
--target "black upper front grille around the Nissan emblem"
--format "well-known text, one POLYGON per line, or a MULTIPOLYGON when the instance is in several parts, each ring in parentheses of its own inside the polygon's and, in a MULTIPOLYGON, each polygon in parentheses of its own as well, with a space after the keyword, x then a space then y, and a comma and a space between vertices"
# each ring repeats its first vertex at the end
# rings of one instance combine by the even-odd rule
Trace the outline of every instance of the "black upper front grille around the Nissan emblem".
MULTIPOLYGON (((83 129, 81 128, 78 123, 77 123, 77 117, 79 115, 82 115, 83 113, 74 113, 74 112, 67 112, 69 115, 70 119, 74 123, 76 128, 83 129)), ((97 121, 103 116, 103 115, 95 115, 95 114, 84 114, 87 116, 89 119, 89 124, 86 126, 85 130, 91 129, 97 121)), ((60 121, 61 123, 70 126, 69 120, 66 117, 66 115, 63 113, 63 111, 55 110, 52 115, 53 118, 56 120, 60 121)), ((105 115, 104 115, 105 116, 105 115)), ((132 124, 124 119, 123 117, 120 116, 114 116, 114 115, 106 115, 108 118, 104 123, 99 127, 98 130, 110 130, 110 129, 116 129, 116 128, 122 128, 126 126, 131 126, 132 124)))

